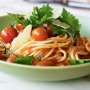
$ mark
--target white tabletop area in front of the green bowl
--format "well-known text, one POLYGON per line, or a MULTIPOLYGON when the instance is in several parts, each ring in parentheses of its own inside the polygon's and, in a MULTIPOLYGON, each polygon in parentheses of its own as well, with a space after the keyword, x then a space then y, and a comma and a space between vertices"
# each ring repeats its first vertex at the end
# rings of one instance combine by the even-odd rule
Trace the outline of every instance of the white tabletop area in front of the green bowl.
POLYGON ((0 90, 90 90, 90 77, 68 81, 40 82, 21 80, 0 73, 0 90))

